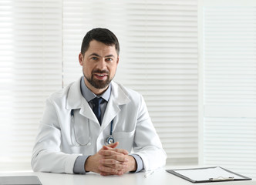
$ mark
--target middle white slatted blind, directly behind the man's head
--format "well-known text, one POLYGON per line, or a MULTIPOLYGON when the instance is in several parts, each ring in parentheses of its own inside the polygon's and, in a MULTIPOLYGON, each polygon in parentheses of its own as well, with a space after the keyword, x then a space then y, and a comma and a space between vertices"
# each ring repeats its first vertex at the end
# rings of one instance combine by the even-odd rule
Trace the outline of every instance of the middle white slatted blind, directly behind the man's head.
POLYGON ((115 81, 141 93, 167 163, 197 163, 197 1, 63 1, 64 86, 79 78, 83 36, 120 40, 115 81))

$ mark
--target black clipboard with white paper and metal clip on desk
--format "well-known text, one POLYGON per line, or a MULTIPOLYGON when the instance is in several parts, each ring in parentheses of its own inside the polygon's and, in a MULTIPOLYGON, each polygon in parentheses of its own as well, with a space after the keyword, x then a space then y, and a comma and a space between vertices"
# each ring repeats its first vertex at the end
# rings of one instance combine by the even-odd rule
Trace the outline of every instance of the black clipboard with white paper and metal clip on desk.
POLYGON ((188 180, 191 183, 212 183, 222 181, 251 180, 222 167, 204 167, 191 169, 166 170, 168 173, 188 180))

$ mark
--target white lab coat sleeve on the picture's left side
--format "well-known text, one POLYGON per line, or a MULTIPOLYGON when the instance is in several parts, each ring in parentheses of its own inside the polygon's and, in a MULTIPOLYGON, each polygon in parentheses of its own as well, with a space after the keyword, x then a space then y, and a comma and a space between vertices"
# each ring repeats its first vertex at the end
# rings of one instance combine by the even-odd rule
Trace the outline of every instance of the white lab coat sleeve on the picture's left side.
POLYGON ((61 130, 56 109, 50 99, 46 100, 45 113, 39 124, 39 133, 32 151, 32 170, 53 173, 73 173, 79 154, 62 153, 61 130))

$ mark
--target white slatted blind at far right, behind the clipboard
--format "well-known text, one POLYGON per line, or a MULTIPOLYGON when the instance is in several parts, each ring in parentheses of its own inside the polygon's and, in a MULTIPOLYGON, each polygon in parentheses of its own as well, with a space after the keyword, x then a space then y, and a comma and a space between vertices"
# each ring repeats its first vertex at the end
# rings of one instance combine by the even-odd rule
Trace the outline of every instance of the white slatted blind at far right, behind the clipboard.
POLYGON ((256 7, 204 8, 204 164, 256 177, 256 7))

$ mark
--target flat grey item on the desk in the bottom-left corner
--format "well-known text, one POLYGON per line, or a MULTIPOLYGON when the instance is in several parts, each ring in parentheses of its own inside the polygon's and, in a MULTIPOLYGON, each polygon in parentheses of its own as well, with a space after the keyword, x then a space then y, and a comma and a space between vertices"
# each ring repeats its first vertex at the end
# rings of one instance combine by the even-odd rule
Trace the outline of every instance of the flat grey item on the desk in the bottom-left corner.
POLYGON ((42 185, 37 176, 0 176, 0 184, 5 185, 42 185))

